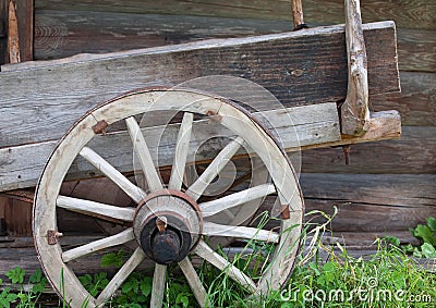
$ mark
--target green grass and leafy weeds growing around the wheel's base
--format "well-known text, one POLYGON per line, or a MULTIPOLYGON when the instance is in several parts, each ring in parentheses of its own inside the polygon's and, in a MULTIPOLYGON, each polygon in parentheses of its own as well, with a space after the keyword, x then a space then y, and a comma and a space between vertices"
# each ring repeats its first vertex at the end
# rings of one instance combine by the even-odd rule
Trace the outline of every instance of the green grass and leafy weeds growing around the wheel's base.
MULTIPOLYGON (((315 214, 325 215, 319 212, 315 214)), ((320 237, 328 232, 331 221, 331 218, 327 215, 325 218, 324 224, 307 225, 305 233, 310 239, 305 247, 308 247, 308 251, 306 248, 304 257, 300 256, 290 281, 282 291, 264 297, 249 296, 247 292, 234 283, 226 271, 218 271, 208 263, 201 266, 201 279, 208 292, 209 306, 271 308, 436 306, 436 274, 424 270, 410 258, 407 249, 392 245, 392 238, 378 239, 374 244, 377 249, 373 255, 352 257, 347 248, 339 244, 336 246, 322 244, 320 237), (320 252, 323 256, 327 254, 327 260, 322 260, 320 252)), ((431 222, 433 223, 433 220, 431 222)), ((427 232, 425 234, 428 235, 427 232)), ((231 258, 231 262, 255 279, 267 266, 269 252, 270 246, 249 241, 244 249, 231 258)), ((226 256, 223 252, 222 255, 226 256)), ((116 263, 120 258, 122 252, 106 257, 104 262, 116 263)), ((12 292, 3 288, 0 293, 0 307, 39 307, 38 299, 47 285, 47 280, 40 271, 31 276, 28 282, 34 284, 34 287, 27 292, 23 288, 24 270, 15 268, 5 274, 8 282, 21 285, 21 289, 12 292)), ((105 272, 86 274, 80 280, 93 296, 109 282, 105 272)), ((2 283, 0 280, 0 285, 2 283)), ((120 287, 119 296, 108 306, 147 307, 150 292, 152 278, 143 273, 133 273, 120 287)), ((59 301, 59 307, 64 306, 65 303, 59 301)), ((187 282, 175 267, 170 267, 168 271, 164 307, 197 307, 187 282)))

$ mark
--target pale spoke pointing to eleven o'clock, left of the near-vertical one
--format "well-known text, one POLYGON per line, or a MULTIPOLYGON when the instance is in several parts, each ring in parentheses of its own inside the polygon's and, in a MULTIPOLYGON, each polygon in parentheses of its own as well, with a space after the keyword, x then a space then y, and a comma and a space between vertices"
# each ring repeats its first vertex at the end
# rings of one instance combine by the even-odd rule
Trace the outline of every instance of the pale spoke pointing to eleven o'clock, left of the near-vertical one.
POLYGON ((149 189, 152 192, 162 189, 162 183, 160 182, 159 174, 153 163, 152 155, 148 150, 147 144, 145 143, 140 125, 133 116, 125 119, 125 123, 133 143, 133 148, 140 158, 141 168, 144 172, 145 178, 147 180, 149 189))

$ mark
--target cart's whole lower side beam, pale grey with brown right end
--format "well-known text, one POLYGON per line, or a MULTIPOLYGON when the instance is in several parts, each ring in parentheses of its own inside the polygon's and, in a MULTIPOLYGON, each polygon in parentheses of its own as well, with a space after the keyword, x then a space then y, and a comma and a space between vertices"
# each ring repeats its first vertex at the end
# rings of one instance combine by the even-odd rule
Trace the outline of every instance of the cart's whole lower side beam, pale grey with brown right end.
MULTIPOLYGON (((291 110, 292 123, 289 121, 289 115, 283 113, 282 110, 264 112, 270 120, 269 125, 274 127, 274 135, 278 137, 283 148, 288 151, 366 143, 400 136, 401 121, 396 112, 373 114, 372 124, 366 135, 341 139, 336 103, 295 107, 291 110)), ((172 163, 178 130, 179 124, 143 128, 156 164, 159 163, 160 167, 165 167, 172 163), (159 145, 157 143, 164 130, 166 130, 165 134, 168 134, 167 136, 173 136, 173 138, 164 145, 159 145)), ((191 141, 187 161, 192 162, 194 153, 196 153, 196 161, 209 161, 213 159, 221 148, 221 143, 211 143, 208 145, 207 150, 202 151, 198 151, 198 147, 204 140, 217 136, 217 134, 228 135, 229 132, 206 120, 194 122, 194 137, 191 141)), ((56 141, 45 141, 0 149, 0 158, 3 161, 3 164, 0 165, 0 192, 35 186, 56 144, 56 141)), ((133 170, 133 150, 126 132, 107 134, 96 138, 90 147, 120 171, 130 172, 133 170), (117 145, 117 147, 110 147, 108 144, 117 145)), ((240 155, 243 155, 243 152, 240 152, 240 155)), ((89 164, 78 159, 70 170, 69 180, 98 175, 99 173, 89 164)))

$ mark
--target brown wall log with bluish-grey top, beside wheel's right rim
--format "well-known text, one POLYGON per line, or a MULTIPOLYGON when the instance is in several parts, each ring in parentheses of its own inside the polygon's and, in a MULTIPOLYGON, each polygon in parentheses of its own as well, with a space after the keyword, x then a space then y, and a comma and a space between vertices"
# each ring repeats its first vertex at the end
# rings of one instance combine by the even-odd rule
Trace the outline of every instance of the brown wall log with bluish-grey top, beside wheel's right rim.
POLYGON ((306 199, 436 210, 435 180, 435 174, 302 173, 300 184, 306 199))

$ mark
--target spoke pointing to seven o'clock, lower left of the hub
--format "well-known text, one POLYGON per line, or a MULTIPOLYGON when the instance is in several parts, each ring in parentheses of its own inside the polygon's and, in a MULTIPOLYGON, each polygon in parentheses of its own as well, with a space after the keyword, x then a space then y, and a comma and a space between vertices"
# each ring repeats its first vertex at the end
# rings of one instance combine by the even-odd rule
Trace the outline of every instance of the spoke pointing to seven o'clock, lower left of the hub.
POLYGON ((137 247, 124 266, 122 266, 122 268, 105 287, 105 289, 101 291, 96 300, 97 306, 105 304, 144 259, 145 254, 143 249, 137 247))

